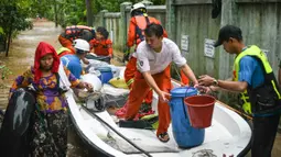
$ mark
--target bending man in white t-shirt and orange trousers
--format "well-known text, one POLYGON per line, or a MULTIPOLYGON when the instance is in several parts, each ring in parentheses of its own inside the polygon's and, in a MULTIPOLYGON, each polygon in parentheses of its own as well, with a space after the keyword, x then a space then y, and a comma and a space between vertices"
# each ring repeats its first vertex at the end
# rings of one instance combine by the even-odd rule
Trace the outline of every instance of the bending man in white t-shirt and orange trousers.
POLYGON ((152 88, 159 96, 158 113, 159 127, 156 136, 161 142, 170 139, 167 127, 170 125, 170 108, 167 104, 172 89, 170 65, 174 61, 195 86, 196 77, 181 56, 177 45, 163 37, 163 27, 160 24, 149 24, 144 31, 145 41, 137 48, 137 67, 134 82, 129 93, 126 120, 132 120, 139 111, 143 98, 152 88))

